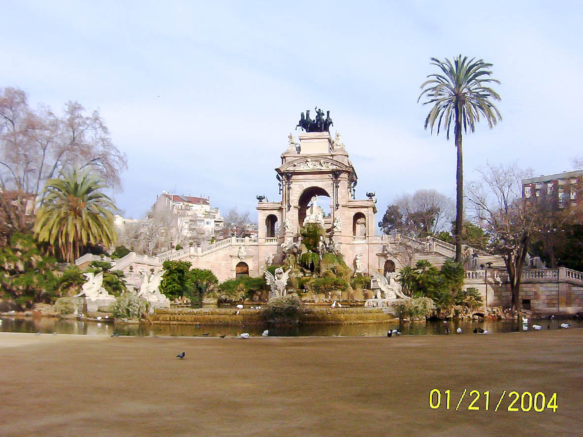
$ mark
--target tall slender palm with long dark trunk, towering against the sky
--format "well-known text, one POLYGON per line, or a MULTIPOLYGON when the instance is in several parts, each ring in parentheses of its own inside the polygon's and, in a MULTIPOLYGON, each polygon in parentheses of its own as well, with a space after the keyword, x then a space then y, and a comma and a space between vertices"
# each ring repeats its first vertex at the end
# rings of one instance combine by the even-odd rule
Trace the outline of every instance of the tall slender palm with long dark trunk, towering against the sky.
POLYGON ((500 100, 496 91, 490 88, 491 83, 500 84, 499 80, 490 79, 492 64, 483 59, 475 60, 459 55, 452 63, 449 59, 440 61, 431 58, 431 65, 437 66, 441 73, 427 76, 423 82, 417 102, 426 97, 424 105, 433 105, 425 119, 425 129, 431 127, 431 133, 437 123, 437 135, 440 129, 447 131, 454 121, 455 147, 458 151, 456 170, 456 214, 455 214, 455 260, 462 260, 462 227, 463 227, 463 161, 462 161, 462 128, 463 132, 474 132, 475 124, 483 117, 490 129, 502 119, 498 108, 492 100, 500 100))

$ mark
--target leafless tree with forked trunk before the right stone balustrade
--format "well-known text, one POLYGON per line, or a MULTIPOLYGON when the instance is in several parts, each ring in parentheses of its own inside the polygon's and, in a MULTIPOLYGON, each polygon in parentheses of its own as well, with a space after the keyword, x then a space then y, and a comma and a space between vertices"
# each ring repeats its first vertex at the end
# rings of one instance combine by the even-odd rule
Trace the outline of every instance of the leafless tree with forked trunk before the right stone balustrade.
POLYGON ((512 293, 512 309, 519 301, 522 267, 532 235, 536 229, 532 203, 522 198, 522 179, 532 170, 522 170, 516 163, 478 168, 482 181, 469 182, 468 200, 486 230, 492 235, 491 246, 504 259, 512 293))

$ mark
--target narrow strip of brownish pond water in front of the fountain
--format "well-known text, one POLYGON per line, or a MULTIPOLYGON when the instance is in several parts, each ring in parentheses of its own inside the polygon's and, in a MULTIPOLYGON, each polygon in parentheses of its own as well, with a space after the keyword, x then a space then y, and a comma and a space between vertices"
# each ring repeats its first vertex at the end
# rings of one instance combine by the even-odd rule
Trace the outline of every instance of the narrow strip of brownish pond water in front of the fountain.
MULTIPOLYGON (((428 321, 426 323, 373 323, 368 325, 303 325, 293 327, 275 327, 265 325, 248 326, 217 326, 217 325, 114 325, 113 323, 81 322, 79 320, 59 320, 56 318, 5 318, 1 319, 1 332, 41 332, 58 334, 83 334, 83 335, 111 335, 114 332, 124 336, 203 336, 219 335, 234 336, 237 333, 248 332, 253 336, 259 336, 265 329, 269 329, 269 336, 385 336, 388 329, 401 329, 403 335, 431 335, 445 334, 445 328, 449 327, 455 332, 461 327, 462 332, 472 334, 475 327, 481 327, 489 332, 522 332, 522 323, 516 320, 485 320, 483 322, 452 321, 428 321)), ((543 327, 559 329, 565 320, 535 320, 543 327)), ((571 327, 583 327, 581 320, 568 320, 571 327)), ((529 330, 532 332, 532 328, 529 330)))

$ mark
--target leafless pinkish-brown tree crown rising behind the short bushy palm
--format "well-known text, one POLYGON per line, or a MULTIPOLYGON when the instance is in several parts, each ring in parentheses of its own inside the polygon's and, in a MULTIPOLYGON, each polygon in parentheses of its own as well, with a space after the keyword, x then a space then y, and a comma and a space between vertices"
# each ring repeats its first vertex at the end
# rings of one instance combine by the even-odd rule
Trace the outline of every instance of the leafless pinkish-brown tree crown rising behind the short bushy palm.
POLYGON ((106 184, 121 188, 125 154, 115 147, 99 111, 69 101, 61 117, 30 108, 24 91, 0 89, 0 188, 34 196, 62 168, 91 167, 106 184))

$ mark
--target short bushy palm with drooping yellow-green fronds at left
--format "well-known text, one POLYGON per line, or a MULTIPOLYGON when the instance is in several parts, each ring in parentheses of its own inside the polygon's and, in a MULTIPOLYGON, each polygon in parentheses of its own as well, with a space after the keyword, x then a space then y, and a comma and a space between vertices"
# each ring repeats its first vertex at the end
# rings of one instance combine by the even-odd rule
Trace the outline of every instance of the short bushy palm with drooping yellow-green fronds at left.
POLYGON ((117 240, 113 224, 115 205, 101 189, 106 185, 89 172, 61 172, 44 188, 34 232, 68 262, 78 258, 87 244, 112 246, 117 240))

